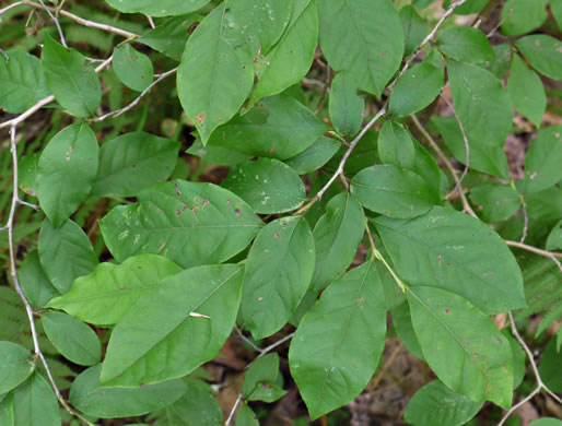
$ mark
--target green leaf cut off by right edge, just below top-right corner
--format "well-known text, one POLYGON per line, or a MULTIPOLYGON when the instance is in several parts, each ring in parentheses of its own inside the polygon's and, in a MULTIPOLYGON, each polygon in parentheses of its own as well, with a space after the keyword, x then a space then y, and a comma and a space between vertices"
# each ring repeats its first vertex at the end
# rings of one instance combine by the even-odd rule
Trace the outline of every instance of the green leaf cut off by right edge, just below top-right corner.
POLYGON ((562 42, 536 34, 519 38, 515 46, 538 72, 553 80, 562 80, 562 42))

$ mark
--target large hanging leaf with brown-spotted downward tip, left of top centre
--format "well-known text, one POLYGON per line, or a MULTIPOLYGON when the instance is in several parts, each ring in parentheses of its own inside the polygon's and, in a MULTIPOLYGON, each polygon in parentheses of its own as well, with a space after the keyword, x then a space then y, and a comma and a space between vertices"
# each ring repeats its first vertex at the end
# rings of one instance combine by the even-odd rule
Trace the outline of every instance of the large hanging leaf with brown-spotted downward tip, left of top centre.
POLYGON ((225 3, 216 7, 201 21, 186 43, 177 70, 179 100, 203 145, 214 129, 236 114, 254 82, 248 50, 233 46, 224 34, 225 8, 225 3))

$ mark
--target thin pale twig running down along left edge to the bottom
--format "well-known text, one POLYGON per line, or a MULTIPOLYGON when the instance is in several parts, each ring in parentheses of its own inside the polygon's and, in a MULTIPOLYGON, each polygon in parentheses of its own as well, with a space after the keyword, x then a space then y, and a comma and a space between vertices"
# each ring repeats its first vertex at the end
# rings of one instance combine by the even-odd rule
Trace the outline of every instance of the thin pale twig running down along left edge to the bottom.
MULTIPOLYGON (((15 268, 15 248, 14 248, 14 241, 13 241, 13 232, 14 232, 14 216, 15 216, 15 210, 17 209, 19 204, 24 204, 22 200, 20 200, 19 196, 19 176, 17 176, 17 147, 15 144, 15 126, 13 125, 10 128, 10 151, 12 153, 12 164, 13 164, 13 179, 12 179, 12 203, 10 205, 10 212, 8 215, 8 223, 3 227, 8 229, 8 251, 10 257, 10 276, 12 277, 12 282, 15 287, 15 292, 22 299, 23 305, 25 306, 25 311, 27 313, 27 320, 30 322, 30 329, 32 332, 32 340, 33 340, 33 347, 35 351, 35 363, 38 359, 40 359, 43 366, 45 367, 45 372, 47 374, 47 378, 50 382, 50 386, 52 387, 52 390, 55 392, 55 395, 57 397, 57 400, 60 402, 60 404, 67 410, 71 415, 75 416, 77 418, 80 418, 82 422, 86 423, 87 425, 93 426, 92 423, 86 421, 84 417, 80 415, 74 409, 72 409, 67 401, 62 398, 60 394, 60 391, 57 387, 57 383, 55 382, 55 379, 52 377, 52 374, 50 372, 49 365, 47 364, 47 360, 45 359, 45 356, 43 355, 43 352, 39 346, 39 341, 37 338, 37 329, 35 328, 35 321, 33 318, 33 309, 30 305, 30 301, 25 297, 25 294, 23 293, 23 289, 20 285, 20 280, 17 279, 17 270, 15 268)), ((27 203, 25 203, 27 205, 27 203)))

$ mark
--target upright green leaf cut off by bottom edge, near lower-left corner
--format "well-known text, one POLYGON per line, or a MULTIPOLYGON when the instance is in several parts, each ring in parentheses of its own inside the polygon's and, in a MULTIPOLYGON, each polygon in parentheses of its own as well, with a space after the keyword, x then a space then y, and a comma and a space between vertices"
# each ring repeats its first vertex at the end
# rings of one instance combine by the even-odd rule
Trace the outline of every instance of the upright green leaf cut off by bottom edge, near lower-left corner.
POLYGON ((52 388, 38 372, 17 387, 13 394, 16 425, 60 426, 59 403, 52 388))

